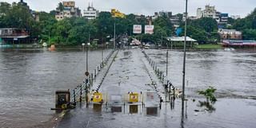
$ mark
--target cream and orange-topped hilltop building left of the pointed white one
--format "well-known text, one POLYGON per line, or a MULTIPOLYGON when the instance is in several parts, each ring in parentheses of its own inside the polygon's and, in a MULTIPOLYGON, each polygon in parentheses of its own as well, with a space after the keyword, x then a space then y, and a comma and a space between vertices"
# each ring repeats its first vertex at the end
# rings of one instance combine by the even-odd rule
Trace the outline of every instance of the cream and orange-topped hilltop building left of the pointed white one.
POLYGON ((81 10, 75 7, 75 2, 62 2, 63 8, 57 8, 55 18, 60 21, 66 17, 82 17, 81 10))

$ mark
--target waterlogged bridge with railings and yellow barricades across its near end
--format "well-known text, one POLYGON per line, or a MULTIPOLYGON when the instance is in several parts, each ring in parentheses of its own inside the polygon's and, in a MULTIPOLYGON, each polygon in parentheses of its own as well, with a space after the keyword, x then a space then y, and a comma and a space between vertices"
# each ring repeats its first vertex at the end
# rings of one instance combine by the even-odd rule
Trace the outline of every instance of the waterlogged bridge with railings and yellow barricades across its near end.
POLYGON ((78 87, 66 91, 70 94, 67 104, 58 104, 62 97, 57 94, 56 107, 66 110, 58 127, 130 127, 130 123, 122 124, 134 121, 127 115, 144 119, 158 116, 162 103, 168 103, 171 109, 180 95, 180 90, 167 81, 164 72, 143 50, 112 51, 93 73, 86 72, 78 87), (121 117, 114 119, 115 114, 121 117))

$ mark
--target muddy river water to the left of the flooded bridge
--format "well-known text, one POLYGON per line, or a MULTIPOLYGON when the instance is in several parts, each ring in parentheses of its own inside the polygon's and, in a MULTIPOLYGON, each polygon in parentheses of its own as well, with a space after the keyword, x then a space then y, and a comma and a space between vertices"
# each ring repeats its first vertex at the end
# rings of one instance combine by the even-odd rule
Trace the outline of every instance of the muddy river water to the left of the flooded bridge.
MULTIPOLYGON (((48 121, 54 115, 50 108, 55 91, 76 87, 86 71, 82 50, 0 50, 0 127, 33 127, 48 121)), ((90 71, 101 59, 101 50, 89 52, 90 71)))

